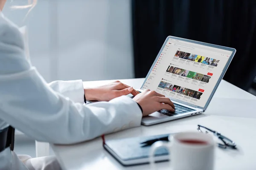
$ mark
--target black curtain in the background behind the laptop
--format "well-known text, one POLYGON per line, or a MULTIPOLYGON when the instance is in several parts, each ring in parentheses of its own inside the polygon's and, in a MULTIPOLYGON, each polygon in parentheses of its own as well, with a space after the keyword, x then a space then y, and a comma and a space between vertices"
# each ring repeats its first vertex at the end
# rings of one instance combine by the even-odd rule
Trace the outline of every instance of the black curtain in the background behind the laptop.
POLYGON ((236 48, 224 79, 256 76, 256 0, 132 0, 135 76, 145 77, 167 36, 236 48))

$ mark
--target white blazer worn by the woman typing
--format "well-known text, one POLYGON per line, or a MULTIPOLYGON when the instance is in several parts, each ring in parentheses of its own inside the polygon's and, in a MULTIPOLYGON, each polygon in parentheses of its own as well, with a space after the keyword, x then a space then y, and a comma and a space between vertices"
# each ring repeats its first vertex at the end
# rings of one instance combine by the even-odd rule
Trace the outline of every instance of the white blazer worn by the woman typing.
MULTIPOLYGON (((126 96, 83 105, 82 80, 47 84, 24 46, 17 26, 0 13, 0 129, 12 125, 37 141, 72 144, 140 126, 140 108, 126 96)), ((6 148, 2 169, 26 167, 6 148)))

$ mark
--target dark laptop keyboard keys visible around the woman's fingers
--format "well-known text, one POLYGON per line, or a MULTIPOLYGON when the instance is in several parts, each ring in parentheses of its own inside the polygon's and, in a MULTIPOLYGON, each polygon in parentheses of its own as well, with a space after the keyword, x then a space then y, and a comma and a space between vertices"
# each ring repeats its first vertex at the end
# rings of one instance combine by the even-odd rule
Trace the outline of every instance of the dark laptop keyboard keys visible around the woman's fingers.
MULTIPOLYGON (((132 94, 128 94, 127 95, 128 97, 130 97, 131 99, 134 98, 134 96, 132 94)), ((185 106, 181 106, 181 105, 178 105, 178 104, 175 104, 175 111, 174 112, 171 112, 171 111, 168 111, 166 109, 162 109, 160 111, 158 111, 159 113, 162 113, 166 116, 174 116, 174 115, 178 115, 178 114, 182 114, 182 113, 187 113, 187 112, 191 112, 191 111, 195 111, 194 109, 191 109, 191 108, 187 108, 185 106)))

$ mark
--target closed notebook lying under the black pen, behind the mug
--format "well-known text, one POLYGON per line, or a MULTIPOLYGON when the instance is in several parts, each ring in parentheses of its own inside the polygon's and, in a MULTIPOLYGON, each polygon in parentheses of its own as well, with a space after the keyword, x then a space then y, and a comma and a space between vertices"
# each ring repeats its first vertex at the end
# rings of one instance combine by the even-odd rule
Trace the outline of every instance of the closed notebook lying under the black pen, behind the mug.
MULTIPOLYGON (((124 166, 148 164, 150 146, 142 147, 143 145, 140 143, 168 135, 169 134, 107 140, 104 144, 104 148, 124 166)), ((168 150, 166 148, 158 149, 155 153, 154 160, 157 162, 169 161, 168 150)))

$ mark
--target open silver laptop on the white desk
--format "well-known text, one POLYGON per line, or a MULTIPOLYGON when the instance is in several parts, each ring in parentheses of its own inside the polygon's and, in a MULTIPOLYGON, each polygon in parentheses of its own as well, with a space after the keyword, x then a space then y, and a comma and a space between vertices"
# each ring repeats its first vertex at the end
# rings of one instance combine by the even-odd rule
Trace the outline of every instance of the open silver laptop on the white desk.
POLYGON ((234 48, 167 37, 138 91, 149 89, 169 97, 175 112, 154 112, 143 117, 142 125, 204 113, 235 53, 234 48))

